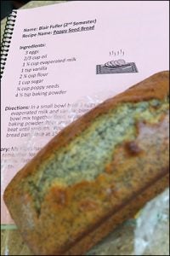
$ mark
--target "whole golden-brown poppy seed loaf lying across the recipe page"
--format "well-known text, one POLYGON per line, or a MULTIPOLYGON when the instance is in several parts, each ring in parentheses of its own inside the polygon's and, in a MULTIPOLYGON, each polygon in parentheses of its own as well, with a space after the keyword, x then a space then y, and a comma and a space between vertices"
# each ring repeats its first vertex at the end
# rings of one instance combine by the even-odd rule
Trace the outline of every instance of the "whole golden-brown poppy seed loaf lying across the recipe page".
POLYGON ((168 186, 169 73, 84 114, 16 174, 4 201, 36 255, 82 255, 168 186))

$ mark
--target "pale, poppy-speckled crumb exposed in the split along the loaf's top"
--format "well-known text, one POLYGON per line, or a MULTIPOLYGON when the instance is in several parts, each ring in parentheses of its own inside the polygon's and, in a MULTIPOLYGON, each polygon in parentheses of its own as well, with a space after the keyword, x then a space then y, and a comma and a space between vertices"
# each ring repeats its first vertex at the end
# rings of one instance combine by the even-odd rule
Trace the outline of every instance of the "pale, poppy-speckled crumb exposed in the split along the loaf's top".
MULTIPOLYGON (((107 172, 117 146, 122 142, 134 141, 137 137, 139 120, 140 123, 156 124, 167 110, 167 99, 163 102, 124 103, 94 120, 71 143, 54 152, 49 160, 40 162, 37 172, 27 178, 26 187, 37 211, 40 211, 44 195, 52 187, 62 188, 82 181, 93 181, 99 174, 107 172)), ((134 151, 135 144, 128 145, 129 152, 134 151)), ((139 150, 135 147, 135 150, 139 150)), ((64 201, 62 193, 59 198, 64 201)))

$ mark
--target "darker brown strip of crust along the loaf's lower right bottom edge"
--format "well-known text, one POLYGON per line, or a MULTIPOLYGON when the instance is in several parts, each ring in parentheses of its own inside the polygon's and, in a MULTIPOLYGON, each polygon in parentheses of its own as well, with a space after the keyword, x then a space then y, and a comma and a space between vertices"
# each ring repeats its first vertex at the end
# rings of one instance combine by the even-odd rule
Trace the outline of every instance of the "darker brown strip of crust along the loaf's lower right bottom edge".
MULTIPOLYGON (((165 172, 167 171, 165 170, 165 172)), ((122 208, 117 209, 111 216, 105 217, 100 224, 96 225, 92 232, 89 232, 88 236, 83 236, 82 239, 76 241, 72 247, 68 248, 68 250, 65 248, 62 254, 56 252, 54 255, 83 255, 98 241, 107 236, 111 230, 114 230, 117 224, 121 224, 127 218, 132 218, 135 213, 144 206, 146 198, 150 198, 151 200, 161 193, 161 191, 168 185, 169 174, 162 178, 157 178, 156 183, 152 183, 152 185, 147 189, 144 189, 144 191, 139 191, 139 195, 135 195, 131 201, 127 201, 125 205, 122 205, 122 208)))

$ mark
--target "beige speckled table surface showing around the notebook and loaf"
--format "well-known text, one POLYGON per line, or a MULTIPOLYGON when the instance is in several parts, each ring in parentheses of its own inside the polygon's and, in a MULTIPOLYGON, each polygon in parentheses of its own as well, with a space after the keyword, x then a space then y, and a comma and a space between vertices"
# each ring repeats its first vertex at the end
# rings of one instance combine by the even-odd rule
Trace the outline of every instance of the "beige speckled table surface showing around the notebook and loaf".
MULTIPOLYGON (((26 3, 20 9, 31 9, 38 6, 44 6, 54 3, 62 3, 67 1, 31 1, 26 3)), ((6 18, 1 20, 1 40, 3 38, 4 26, 6 18)), ((161 228, 166 228, 161 226, 161 228)), ((135 220, 129 220, 119 226, 103 241, 100 241, 87 255, 133 255, 135 220)), ((146 250, 144 255, 168 255, 169 234, 166 232, 163 236, 157 236, 157 242, 151 249, 146 250)), ((22 240, 20 233, 16 229, 1 230, 1 255, 33 255, 30 249, 22 240)), ((155 240, 156 241, 156 240, 155 240)))

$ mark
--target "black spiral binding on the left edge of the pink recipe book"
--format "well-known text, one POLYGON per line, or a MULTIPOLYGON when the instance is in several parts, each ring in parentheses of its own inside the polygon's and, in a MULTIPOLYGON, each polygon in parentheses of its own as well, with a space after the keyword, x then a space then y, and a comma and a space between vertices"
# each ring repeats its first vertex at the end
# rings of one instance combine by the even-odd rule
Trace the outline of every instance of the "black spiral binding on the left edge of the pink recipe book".
POLYGON ((10 15, 8 15, 5 29, 3 33, 3 39, 1 44, 1 79, 3 78, 3 72, 5 68, 5 63, 7 61, 8 49, 10 46, 10 42, 12 39, 13 31, 14 31, 14 22, 16 19, 17 10, 13 10, 10 15))

